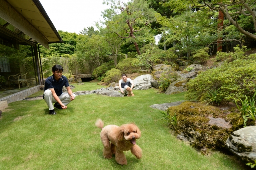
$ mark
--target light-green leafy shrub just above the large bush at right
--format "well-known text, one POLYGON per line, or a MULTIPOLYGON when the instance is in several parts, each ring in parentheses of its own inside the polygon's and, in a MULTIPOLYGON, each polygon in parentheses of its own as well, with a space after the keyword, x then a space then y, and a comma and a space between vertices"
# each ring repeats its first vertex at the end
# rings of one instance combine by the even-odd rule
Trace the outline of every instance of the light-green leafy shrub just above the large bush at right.
POLYGON ((234 52, 224 53, 218 51, 215 61, 225 61, 229 63, 236 59, 246 59, 247 55, 245 55, 245 52, 248 50, 250 49, 247 49, 246 46, 242 46, 242 48, 240 48, 239 45, 236 45, 236 47, 234 47, 234 52))

